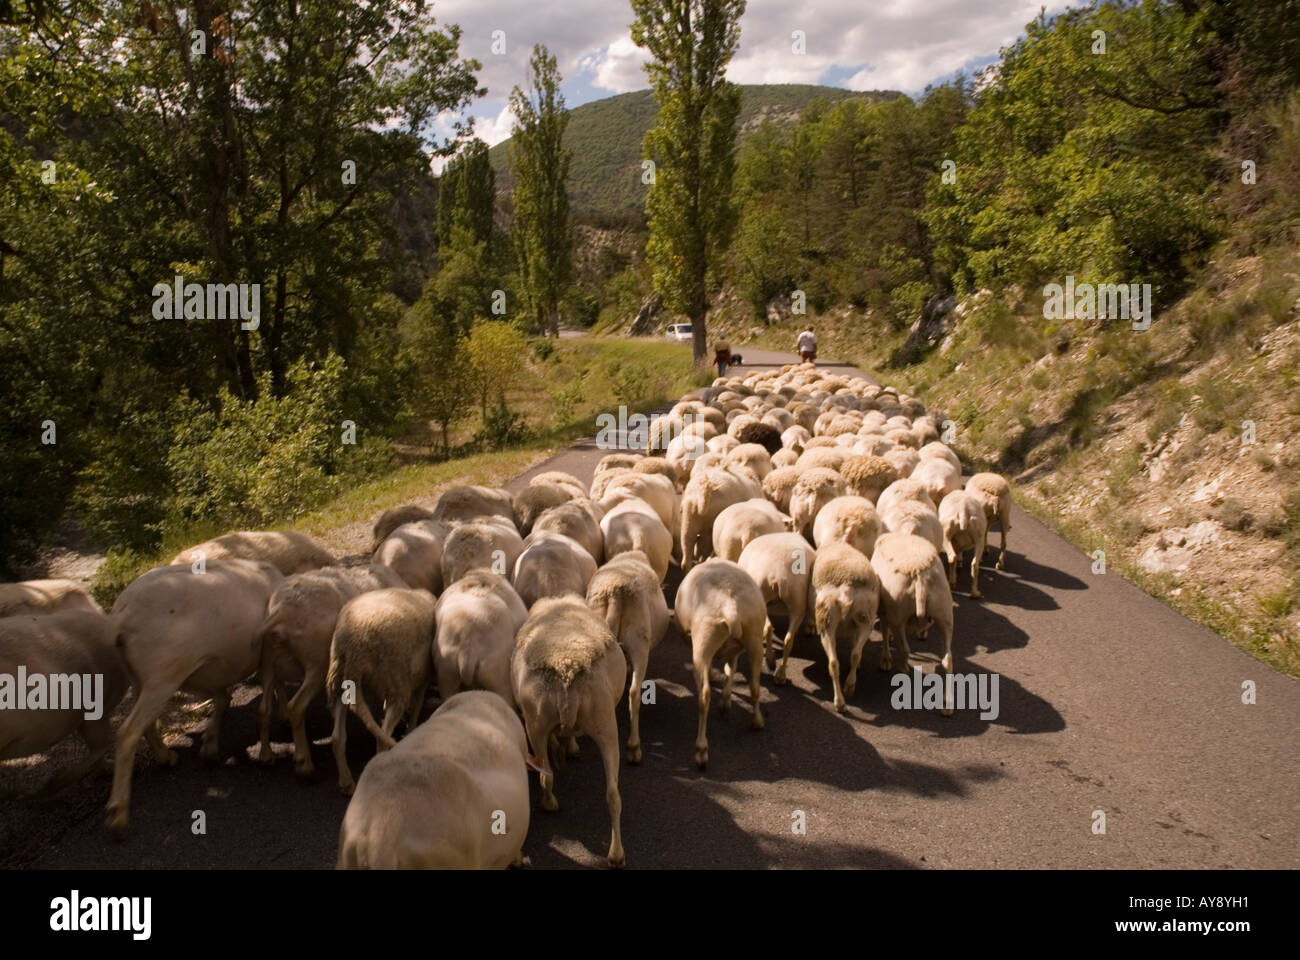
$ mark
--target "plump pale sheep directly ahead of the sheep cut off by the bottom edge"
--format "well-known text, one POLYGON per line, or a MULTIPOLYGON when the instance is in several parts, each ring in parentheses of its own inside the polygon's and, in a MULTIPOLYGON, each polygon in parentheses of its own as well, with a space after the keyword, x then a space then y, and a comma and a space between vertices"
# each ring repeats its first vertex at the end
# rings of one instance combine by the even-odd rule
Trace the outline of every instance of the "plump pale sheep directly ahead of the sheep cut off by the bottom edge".
POLYGON ((433 670, 438 696, 490 689, 515 706, 510 657, 528 607, 504 576, 471 570, 438 597, 433 611, 433 670))

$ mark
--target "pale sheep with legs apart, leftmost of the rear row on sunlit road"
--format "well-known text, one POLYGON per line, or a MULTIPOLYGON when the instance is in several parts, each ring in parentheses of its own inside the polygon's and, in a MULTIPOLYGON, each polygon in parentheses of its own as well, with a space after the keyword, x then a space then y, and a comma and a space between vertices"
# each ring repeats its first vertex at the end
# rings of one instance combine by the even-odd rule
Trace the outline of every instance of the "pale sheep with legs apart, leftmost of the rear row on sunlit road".
POLYGON ((763 728, 759 706, 759 678, 763 673, 763 637, 767 628, 767 604, 753 578, 731 561, 714 558, 694 567, 677 588, 673 617, 684 636, 690 640, 696 689, 699 696, 699 725, 696 732, 696 764, 708 764, 708 683, 714 657, 725 663, 722 710, 731 706, 736 662, 745 653, 749 660, 749 689, 753 704, 750 726, 763 728))

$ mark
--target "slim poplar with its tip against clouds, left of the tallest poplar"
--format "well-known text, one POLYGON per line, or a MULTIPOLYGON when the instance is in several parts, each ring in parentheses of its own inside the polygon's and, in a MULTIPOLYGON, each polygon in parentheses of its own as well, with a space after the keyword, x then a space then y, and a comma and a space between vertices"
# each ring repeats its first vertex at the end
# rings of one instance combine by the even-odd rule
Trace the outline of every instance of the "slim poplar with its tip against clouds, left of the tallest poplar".
POLYGON ((568 113, 560 94, 555 57, 533 47, 528 90, 510 94, 515 116, 510 161, 515 168, 515 256, 524 295, 540 330, 559 336, 559 302, 573 273, 573 225, 569 220, 564 148, 568 113))

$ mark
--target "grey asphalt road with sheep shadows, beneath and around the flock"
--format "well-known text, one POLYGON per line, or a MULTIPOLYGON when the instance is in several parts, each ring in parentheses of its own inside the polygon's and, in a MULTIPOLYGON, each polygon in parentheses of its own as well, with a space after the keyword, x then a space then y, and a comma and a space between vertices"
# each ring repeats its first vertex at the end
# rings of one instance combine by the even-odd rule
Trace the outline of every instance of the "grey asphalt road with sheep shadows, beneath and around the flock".
MULTIPOLYGON (((742 369, 789 359, 742 353, 742 369)), ((606 453, 580 442, 511 488, 543 470, 588 480, 606 453)), ((645 760, 620 771, 628 866, 1300 866, 1300 683, 1118 575, 1093 574, 1089 557, 1023 511, 1013 523, 1006 571, 993 570, 991 552, 984 600, 970 600, 965 571, 956 597, 956 670, 997 676, 992 719, 893 709, 878 643, 838 715, 824 654, 806 636, 790 684, 763 679, 766 730, 749 727, 748 692, 728 715, 715 710, 710 766, 699 771, 690 654, 672 628, 650 660, 658 696, 641 713, 645 760), (1254 704, 1242 702, 1247 680, 1254 704)), ((670 602, 679 579, 673 567, 670 602)), ((935 645, 916 643, 914 665, 931 671, 935 645)), ((317 779, 300 784, 286 725, 273 727, 274 767, 246 753, 255 693, 242 689, 226 714, 224 764, 199 760, 198 738, 172 770, 142 747, 125 840, 103 827, 100 777, 43 813, 42 848, 23 862, 332 866, 346 800, 334 786, 325 708, 309 723, 317 779), (194 810, 205 814, 204 835, 191 830, 194 810)), ((370 743, 359 727, 350 736, 354 771, 370 743)), ((556 795, 560 809, 547 813, 534 786, 533 868, 603 866, 608 820, 590 741, 558 770, 556 795)))

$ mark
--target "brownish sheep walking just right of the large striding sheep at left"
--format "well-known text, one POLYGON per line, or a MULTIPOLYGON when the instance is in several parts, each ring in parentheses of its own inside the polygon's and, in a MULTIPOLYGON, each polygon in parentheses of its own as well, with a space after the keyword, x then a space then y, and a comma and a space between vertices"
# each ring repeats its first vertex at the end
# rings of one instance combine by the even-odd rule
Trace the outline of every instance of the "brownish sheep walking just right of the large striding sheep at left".
POLYGON ((260 631, 260 762, 270 764, 274 760, 270 751, 272 691, 282 692, 285 680, 300 679, 298 691, 285 708, 294 731, 294 771, 306 777, 315 770, 311 741, 307 739, 307 708, 325 692, 329 645, 338 613, 343 604, 367 591, 403 585, 407 584, 398 572, 378 563, 368 567, 321 567, 294 574, 276 585, 266 602, 266 617, 260 631))

